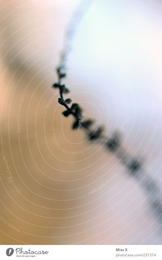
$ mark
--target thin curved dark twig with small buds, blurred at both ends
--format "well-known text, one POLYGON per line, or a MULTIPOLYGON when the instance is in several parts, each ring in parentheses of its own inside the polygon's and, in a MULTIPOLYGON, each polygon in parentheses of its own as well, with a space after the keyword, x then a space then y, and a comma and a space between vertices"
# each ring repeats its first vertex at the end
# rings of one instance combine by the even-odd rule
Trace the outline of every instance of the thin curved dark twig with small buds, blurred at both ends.
MULTIPOLYGON (((88 2, 88 1, 87 1, 88 2)), ((93 2, 93 0, 91 0, 89 2, 89 4, 93 2)), ((81 1, 81 4, 79 6, 79 8, 77 9, 78 15, 79 12, 78 10, 84 9, 83 4, 85 4, 85 1, 81 1)), ((89 6, 88 4, 88 6, 89 6)), ((86 9, 87 10, 87 9, 86 9)), ((80 15, 80 19, 83 17, 85 11, 82 10, 81 15, 80 15)), ((75 16, 75 12, 73 13, 73 16, 75 16)), ((73 26, 73 24, 70 23, 70 29, 68 28, 68 33, 66 34, 65 39, 65 43, 64 43, 64 51, 61 52, 61 61, 60 61, 60 65, 57 68, 57 74, 58 74, 58 83, 54 83, 53 87, 55 88, 59 88, 59 93, 60 93, 60 98, 58 99, 58 102, 63 105, 66 110, 62 113, 65 117, 72 115, 75 119, 72 128, 73 129, 79 129, 80 127, 82 127, 82 129, 84 129, 86 131, 86 134, 88 135, 90 140, 104 140, 104 145, 106 146, 107 149, 111 150, 112 152, 116 152, 116 156, 123 162, 124 165, 126 165, 129 169, 129 173, 131 173, 131 175, 133 175, 134 178, 136 178, 138 181, 140 180, 141 185, 144 187, 145 190, 147 190, 148 193, 148 198, 150 201, 150 205, 153 207, 153 209, 156 209, 156 215, 158 215, 158 217, 162 214, 162 205, 159 202, 159 195, 160 195, 160 191, 157 188, 156 183, 154 183, 154 180, 151 179, 151 177, 148 174, 145 174, 145 176, 142 178, 141 176, 141 165, 139 163, 138 160, 128 156, 126 154, 126 152, 124 152, 120 145, 119 142, 116 142, 116 136, 112 137, 112 138, 107 138, 105 136, 103 136, 103 132, 104 132, 104 128, 101 126, 98 126, 98 128, 96 130, 92 130, 91 126, 94 123, 94 120, 92 119, 88 119, 83 121, 83 116, 82 116, 82 108, 79 106, 79 104, 77 103, 73 103, 71 107, 68 106, 68 104, 71 103, 71 99, 68 98, 66 100, 64 100, 64 96, 63 94, 69 92, 69 90, 66 88, 65 85, 61 84, 62 79, 64 79, 66 77, 66 73, 64 72, 64 68, 65 68, 65 62, 67 60, 68 54, 71 50, 71 43, 72 43, 72 36, 74 35, 75 29, 76 27, 73 26), (81 123, 79 123, 79 120, 81 123)))

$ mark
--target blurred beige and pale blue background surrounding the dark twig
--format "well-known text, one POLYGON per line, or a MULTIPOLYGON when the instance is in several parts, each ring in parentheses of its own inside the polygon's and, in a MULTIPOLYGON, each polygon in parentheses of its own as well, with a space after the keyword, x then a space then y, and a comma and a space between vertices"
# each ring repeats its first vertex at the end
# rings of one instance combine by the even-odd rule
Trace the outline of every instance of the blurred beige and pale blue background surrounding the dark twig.
POLYGON ((161 1, 14 0, 0 12, 1 244, 161 244, 161 1), (61 114, 51 85, 70 33, 66 98, 120 132, 138 178, 61 114))

